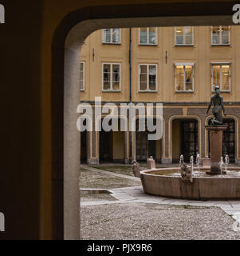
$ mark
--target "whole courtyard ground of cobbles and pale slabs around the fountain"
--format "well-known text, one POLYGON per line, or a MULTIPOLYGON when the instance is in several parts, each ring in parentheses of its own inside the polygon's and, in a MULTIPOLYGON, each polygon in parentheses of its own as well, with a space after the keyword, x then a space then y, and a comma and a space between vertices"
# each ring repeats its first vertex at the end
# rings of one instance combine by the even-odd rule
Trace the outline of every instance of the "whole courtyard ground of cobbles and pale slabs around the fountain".
POLYGON ((144 194, 131 166, 82 166, 80 181, 82 240, 240 240, 230 217, 240 201, 144 194))

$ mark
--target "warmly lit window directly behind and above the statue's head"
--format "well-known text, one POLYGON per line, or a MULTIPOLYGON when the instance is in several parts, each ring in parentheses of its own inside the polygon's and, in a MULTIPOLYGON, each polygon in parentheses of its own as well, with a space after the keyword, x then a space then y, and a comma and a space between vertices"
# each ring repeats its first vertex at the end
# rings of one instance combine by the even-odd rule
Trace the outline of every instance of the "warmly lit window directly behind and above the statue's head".
POLYGON ((222 91, 230 91, 230 64, 212 63, 211 64, 211 85, 212 91, 215 86, 220 86, 222 91))

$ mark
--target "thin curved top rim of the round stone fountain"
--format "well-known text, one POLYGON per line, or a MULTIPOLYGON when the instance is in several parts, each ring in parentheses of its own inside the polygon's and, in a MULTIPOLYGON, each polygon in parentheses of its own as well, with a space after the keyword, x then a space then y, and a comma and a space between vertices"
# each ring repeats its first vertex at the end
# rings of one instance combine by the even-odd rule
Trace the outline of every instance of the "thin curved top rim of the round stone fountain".
MULTIPOLYGON (((237 166, 229 166, 227 168, 228 170, 240 170, 240 167, 237 167, 237 166)), ((178 170, 179 171, 179 168, 178 167, 174 167, 174 168, 171 168, 171 167, 167 167, 167 168, 159 168, 159 169, 151 169, 151 170, 142 170, 140 171, 140 174, 141 175, 146 175, 146 176, 151 176, 151 177, 158 177, 158 178, 181 178, 181 177, 176 177, 176 176, 170 176, 170 175, 156 175, 156 174, 149 174, 150 172, 156 172, 156 171, 165 171, 165 170, 178 170)), ((194 170, 199 170, 198 167, 195 167, 194 170)), ((210 170, 210 167, 200 167, 200 170, 210 170)), ((209 177, 193 177, 194 179, 221 179, 221 178, 224 178, 225 180, 227 178, 235 178, 235 179, 239 179, 240 176, 232 176, 232 177, 226 177, 226 175, 224 177, 216 177, 216 176, 209 176, 209 177)))

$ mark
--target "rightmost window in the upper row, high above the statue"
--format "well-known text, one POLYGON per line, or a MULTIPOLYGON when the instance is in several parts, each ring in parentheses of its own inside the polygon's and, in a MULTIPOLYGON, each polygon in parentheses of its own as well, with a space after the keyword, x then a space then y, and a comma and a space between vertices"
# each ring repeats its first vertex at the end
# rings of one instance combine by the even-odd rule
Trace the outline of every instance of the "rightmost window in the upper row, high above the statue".
POLYGON ((211 44, 212 46, 229 46, 230 26, 212 26, 211 44))

